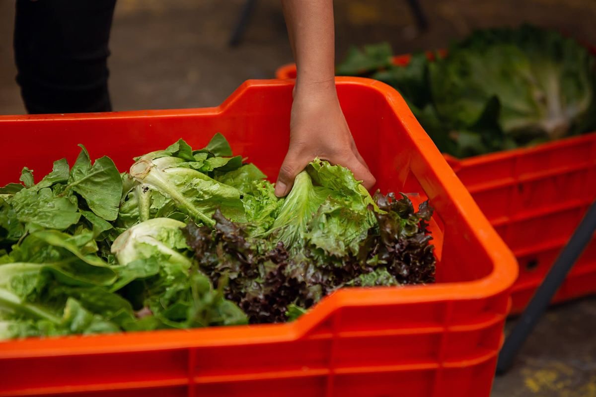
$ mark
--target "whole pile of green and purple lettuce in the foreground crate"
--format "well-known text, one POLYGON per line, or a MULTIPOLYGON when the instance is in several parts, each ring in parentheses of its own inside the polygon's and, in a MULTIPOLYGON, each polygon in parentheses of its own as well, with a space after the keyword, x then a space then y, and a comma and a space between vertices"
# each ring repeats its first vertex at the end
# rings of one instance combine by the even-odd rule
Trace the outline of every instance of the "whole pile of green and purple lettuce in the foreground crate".
POLYGON ((0 188, 0 339, 293 320, 340 287, 434 279, 425 202, 315 160, 287 198, 224 136, 54 162, 0 188))

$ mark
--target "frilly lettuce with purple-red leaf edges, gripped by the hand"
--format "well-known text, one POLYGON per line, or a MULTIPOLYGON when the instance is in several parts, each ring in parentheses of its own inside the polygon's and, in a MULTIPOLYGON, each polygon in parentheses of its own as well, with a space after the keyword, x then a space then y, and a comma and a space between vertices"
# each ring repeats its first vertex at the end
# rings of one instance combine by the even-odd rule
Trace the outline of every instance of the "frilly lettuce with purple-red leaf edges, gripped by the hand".
POLYGON ((316 189, 322 186, 313 184, 308 172, 302 173, 272 233, 254 233, 219 211, 213 215, 215 230, 193 223, 185 229, 200 269, 218 287, 220 280, 226 280, 226 298, 236 302, 250 322, 297 318, 344 286, 434 281, 433 246, 426 229, 432 210, 427 203, 415 212, 403 195, 398 200, 393 194, 378 193, 374 202, 344 168, 321 161, 309 167, 311 172, 318 171, 314 180, 327 186, 316 189), (351 176, 344 183, 328 178, 344 172, 351 176), (333 207, 342 193, 353 201, 351 208, 333 207), (327 204, 313 205, 312 210, 309 201, 327 204), (327 211, 326 206, 334 211, 327 211), (327 223, 322 223, 321 214, 327 223), (350 217, 358 220, 352 222, 350 217))

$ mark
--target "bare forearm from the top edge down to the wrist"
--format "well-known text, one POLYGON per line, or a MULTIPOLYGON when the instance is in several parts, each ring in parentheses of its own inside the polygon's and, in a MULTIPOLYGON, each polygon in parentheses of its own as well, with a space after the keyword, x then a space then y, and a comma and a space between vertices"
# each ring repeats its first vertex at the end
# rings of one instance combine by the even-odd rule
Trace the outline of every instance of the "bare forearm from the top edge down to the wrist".
POLYGON ((333 0, 282 0, 296 61, 296 91, 335 93, 333 0))

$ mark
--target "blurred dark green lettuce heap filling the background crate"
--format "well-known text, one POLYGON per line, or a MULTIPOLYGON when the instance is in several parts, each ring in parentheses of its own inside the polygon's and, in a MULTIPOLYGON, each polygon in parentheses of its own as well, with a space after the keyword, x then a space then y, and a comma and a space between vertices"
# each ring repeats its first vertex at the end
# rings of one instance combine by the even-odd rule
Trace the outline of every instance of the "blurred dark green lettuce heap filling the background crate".
POLYGON ((352 48, 337 73, 402 94, 445 153, 463 158, 596 130, 596 61, 585 46, 529 25, 478 30, 446 55, 391 61, 387 43, 352 48))

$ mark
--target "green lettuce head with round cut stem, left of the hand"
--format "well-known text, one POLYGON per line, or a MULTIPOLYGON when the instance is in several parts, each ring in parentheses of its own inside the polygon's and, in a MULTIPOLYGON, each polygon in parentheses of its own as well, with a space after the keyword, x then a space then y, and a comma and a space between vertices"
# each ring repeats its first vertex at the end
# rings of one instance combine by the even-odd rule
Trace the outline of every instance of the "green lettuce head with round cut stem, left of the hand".
POLYGON ((193 151, 180 139, 164 151, 136 160, 130 172, 134 182, 127 184, 128 192, 120 202, 117 223, 121 226, 154 217, 188 218, 213 225, 211 215, 218 207, 234 219, 244 217, 241 192, 217 180, 243 167, 240 156, 232 157, 223 135, 216 134, 204 149, 193 151))

